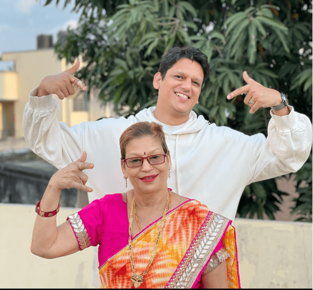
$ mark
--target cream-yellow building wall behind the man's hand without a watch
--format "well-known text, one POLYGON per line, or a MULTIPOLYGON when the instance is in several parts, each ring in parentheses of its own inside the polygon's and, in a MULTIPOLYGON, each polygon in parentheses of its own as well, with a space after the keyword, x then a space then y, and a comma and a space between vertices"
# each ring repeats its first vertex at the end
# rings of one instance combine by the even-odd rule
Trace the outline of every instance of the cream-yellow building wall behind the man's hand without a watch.
MULTIPOLYGON (((25 52, 5 52, 2 54, 2 60, 15 61, 15 72, 4 72, 0 74, 0 96, 1 90, 6 93, 10 91, 12 87, 14 88, 11 96, 16 100, 15 136, 23 137, 23 111, 28 102, 30 91, 39 86, 45 76, 60 73, 74 64, 66 65, 65 59, 59 60, 53 48, 25 52), (13 85, 13 83, 15 83, 15 85, 13 85)), ((84 66, 82 61, 80 67, 81 66, 84 66)), ((77 88, 77 92, 78 91, 79 89, 77 88)), ((6 95, 8 94, 6 93, 6 95)), ((88 112, 73 112, 73 97, 75 97, 75 95, 64 100, 59 100, 59 98, 54 95, 54 98, 60 105, 57 118, 59 121, 65 122, 69 127, 82 121, 94 121, 107 115, 108 110, 105 107, 99 106, 100 103, 93 94, 91 94, 90 97, 90 110, 88 112)))

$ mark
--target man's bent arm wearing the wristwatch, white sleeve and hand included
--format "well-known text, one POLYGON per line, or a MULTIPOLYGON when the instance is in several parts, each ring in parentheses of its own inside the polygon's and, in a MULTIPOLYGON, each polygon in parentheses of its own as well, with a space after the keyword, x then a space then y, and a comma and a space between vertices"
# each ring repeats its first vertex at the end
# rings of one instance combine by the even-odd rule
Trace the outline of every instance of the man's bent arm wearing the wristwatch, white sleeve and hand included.
MULTIPOLYGON (((231 92, 232 99, 246 93, 244 103, 251 107, 253 114, 260 107, 274 107, 282 103, 276 90, 267 88, 243 74, 247 85, 231 92)), ((268 137, 257 134, 250 147, 247 184, 273 178, 299 170, 308 159, 312 147, 312 124, 310 119, 287 106, 279 111, 271 110, 268 137)))

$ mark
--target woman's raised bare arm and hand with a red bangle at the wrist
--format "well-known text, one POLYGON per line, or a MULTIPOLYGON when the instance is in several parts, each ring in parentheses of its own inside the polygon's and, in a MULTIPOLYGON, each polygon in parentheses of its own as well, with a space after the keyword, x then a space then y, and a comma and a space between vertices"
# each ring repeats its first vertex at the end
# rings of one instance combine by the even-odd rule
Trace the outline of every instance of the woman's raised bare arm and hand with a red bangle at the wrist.
MULTIPOLYGON (((87 192, 92 191, 90 187, 85 185, 88 176, 79 170, 80 164, 82 164, 83 169, 94 167, 92 163, 85 162, 86 157, 87 154, 84 152, 80 159, 60 169, 51 177, 39 205, 41 211, 50 212, 58 207, 60 192, 63 188, 74 187, 87 192)), ((52 217, 37 215, 31 243, 33 254, 51 259, 66 256, 78 250, 79 245, 69 221, 57 227, 56 215, 52 217)))

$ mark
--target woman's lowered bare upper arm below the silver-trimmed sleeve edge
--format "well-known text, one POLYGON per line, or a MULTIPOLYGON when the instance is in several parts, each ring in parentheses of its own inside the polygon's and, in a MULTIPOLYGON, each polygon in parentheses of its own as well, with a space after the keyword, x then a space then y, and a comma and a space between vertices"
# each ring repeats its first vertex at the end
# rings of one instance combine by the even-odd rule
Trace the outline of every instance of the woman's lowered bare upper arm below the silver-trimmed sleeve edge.
POLYGON ((226 260, 201 277, 203 288, 228 288, 226 260))

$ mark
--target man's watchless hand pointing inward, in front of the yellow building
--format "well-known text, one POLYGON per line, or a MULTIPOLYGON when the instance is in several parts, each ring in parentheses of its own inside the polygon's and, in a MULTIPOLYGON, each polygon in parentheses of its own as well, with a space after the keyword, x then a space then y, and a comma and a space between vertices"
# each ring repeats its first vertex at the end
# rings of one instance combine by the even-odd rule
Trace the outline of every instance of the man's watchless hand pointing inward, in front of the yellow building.
POLYGON ((60 100, 75 94, 74 86, 78 86, 81 90, 85 91, 85 84, 77 77, 73 76, 74 72, 79 69, 80 61, 77 60, 74 66, 66 71, 56 75, 46 76, 41 81, 38 87, 37 96, 47 96, 55 94, 60 100))

